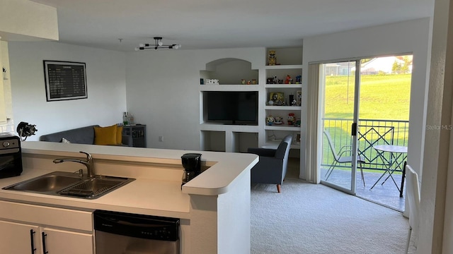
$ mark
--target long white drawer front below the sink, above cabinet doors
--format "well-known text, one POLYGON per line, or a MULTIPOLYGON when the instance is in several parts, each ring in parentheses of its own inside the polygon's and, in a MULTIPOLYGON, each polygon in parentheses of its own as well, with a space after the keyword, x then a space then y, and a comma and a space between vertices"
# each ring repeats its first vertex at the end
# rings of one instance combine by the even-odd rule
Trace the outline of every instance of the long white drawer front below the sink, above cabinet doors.
POLYGON ((0 218, 33 224, 93 231, 92 212, 0 200, 0 218))

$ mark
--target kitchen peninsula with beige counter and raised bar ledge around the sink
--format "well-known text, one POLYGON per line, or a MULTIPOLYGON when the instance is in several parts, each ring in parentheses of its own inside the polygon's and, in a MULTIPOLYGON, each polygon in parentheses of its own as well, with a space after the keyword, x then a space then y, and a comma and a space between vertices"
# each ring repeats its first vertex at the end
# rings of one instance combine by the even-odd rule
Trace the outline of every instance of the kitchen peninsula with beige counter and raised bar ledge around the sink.
POLYGON ((84 159, 79 151, 91 154, 96 174, 136 180, 93 200, 0 190, 0 229, 2 221, 72 229, 88 238, 87 248, 91 243, 94 253, 91 213, 109 210, 179 218, 184 254, 250 253, 250 169, 258 162, 256 155, 39 141, 21 145, 23 173, 0 179, 0 188, 52 171, 77 171, 81 164, 52 161, 84 159), (181 188, 180 157, 189 152, 202 154, 204 171, 181 188))

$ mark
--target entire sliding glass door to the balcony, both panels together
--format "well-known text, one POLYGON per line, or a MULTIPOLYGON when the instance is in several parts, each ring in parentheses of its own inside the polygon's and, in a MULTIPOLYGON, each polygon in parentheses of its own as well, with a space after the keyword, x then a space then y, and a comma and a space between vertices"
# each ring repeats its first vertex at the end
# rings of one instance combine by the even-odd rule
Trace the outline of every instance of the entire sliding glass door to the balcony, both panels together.
POLYGON ((412 59, 404 54, 318 63, 321 183, 403 210, 406 152, 387 150, 407 149, 412 59))

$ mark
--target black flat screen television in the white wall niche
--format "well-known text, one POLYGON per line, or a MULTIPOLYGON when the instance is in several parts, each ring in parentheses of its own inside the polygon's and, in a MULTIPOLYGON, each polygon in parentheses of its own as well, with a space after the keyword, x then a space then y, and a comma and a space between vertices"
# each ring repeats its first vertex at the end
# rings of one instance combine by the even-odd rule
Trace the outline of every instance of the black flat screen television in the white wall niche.
POLYGON ((205 102, 210 122, 258 124, 258 91, 205 92, 205 102))

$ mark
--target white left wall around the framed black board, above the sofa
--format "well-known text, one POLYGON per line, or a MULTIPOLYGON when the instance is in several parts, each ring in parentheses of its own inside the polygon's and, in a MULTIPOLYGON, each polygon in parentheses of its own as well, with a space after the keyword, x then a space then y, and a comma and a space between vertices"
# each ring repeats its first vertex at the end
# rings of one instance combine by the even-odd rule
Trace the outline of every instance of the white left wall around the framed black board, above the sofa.
POLYGON ((122 122, 126 109, 125 54, 58 42, 9 42, 13 118, 35 124, 40 135, 122 122), (86 63, 87 99, 47 102, 42 60, 86 63))

